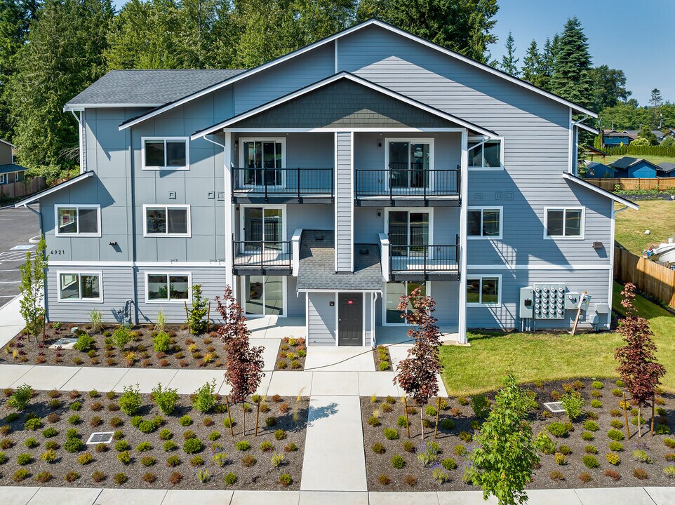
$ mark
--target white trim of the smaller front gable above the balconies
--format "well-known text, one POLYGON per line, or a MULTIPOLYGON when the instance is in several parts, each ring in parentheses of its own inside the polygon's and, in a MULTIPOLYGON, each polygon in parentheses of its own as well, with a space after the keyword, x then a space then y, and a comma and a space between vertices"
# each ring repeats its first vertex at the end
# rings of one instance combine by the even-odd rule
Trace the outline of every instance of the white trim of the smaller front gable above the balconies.
POLYGON ((406 103, 412 107, 416 107, 417 109, 422 109, 425 112, 428 112, 429 114, 434 114, 434 116, 439 116, 443 119, 446 119, 447 121, 451 121, 453 123, 457 123, 460 126, 464 126, 468 130, 475 131, 477 133, 480 133, 481 135, 486 135, 487 137, 490 138, 496 138, 497 135, 495 132, 486 130, 485 128, 481 128, 480 126, 474 125, 473 123, 469 123, 468 121, 465 121, 463 119, 460 119, 456 116, 453 116, 452 114, 446 114, 445 112, 440 111, 439 109, 434 109, 434 107, 429 107, 429 105, 425 105, 422 102, 417 102, 417 100, 413 100, 412 98, 408 98, 405 95, 401 95, 400 93, 396 93, 388 88, 385 88, 383 86, 380 86, 379 84, 375 84, 373 82, 367 81, 366 79, 363 79, 359 76, 355 76, 354 74, 349 74, 349 72, 340 72, 340 74, 335 74, 333 76, 330 76, 326 79, 323 79, 319 82, 316 82, 314 84, 310 84, 309 86, 305 86, 305 88, 301 88, 300 90, 297 90, 293 93, 289 93, 288 95, 285 95, 283 97, 277 98, 276 100, 272 100, 272 102, 267 102, 266 104, 260 105, 259 107, 255 107, 255 109, 250 109, 247 112, 243 112, 243 114, 239 114, 237 116, 234 116, 230 119, 226 119, 225 121, 221 121, 218 124, 215 124, 213 126, 209 126, 208 128, 205 128, 203 130, 197 131, 193 133, 190 137, 191 140, 196 140, 198 138, 203 137, 204 135, 209 135, 210 133, 215 133, 216 131, 222 129, 222 128, 227 128, 230 125, 233 125, 235 123, 239 123, 239 121, 243 121, 244 119, 248 119, 251 116, 255 116, 256 114, 260 114, 261 112, 265 112, 267 109, 273 109, 274 107, 278 107, 279 105, 282 105, 283 103, 286 103, 290 100, 293 100, 295 98, 298 98, 302 95, 306 95, 307 93, 311 93, 314 90, 317 90, 319 88, 323 88, 323 86, 328 86, 330 83, 334 83, 335 81, 339 81, 340 79, 348 79, 349 81, 353 81, 354 83, 361 84, 361 86, 366 86, 367 88, 373 89, 379 93, 382 93, 384 95, 388 95, 389 97, 394 98, 395 100, 399 100, 399 102, 406 103))

